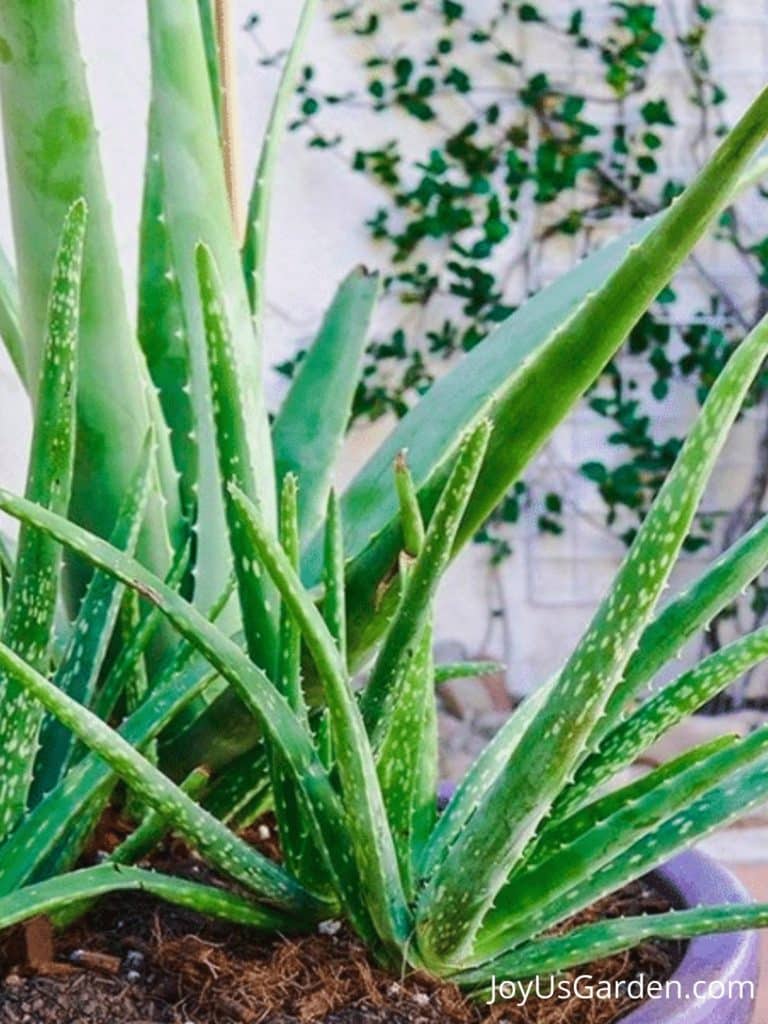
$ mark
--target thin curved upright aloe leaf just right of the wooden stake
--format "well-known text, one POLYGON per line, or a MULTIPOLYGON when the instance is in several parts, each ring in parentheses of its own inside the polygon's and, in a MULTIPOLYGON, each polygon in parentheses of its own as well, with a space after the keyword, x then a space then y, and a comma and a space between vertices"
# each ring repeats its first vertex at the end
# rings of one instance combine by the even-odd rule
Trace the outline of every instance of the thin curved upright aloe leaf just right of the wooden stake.
MULTIPOLYGON (((294 98, 301 54, 316 7, 317 0, 304 0, 302 4, 291 49, 288 51, 286 62, 283 66, 278 92, 264 132, 261 155, 248 202, 248 222, 243 245, 243 270, 257 330, 260 330, 263 306, 264 264, 269 236, 269 204, 273 191, 274 171, 294 98)), ((281 473, 280 477, 282 478, 282 476, 281 473)))

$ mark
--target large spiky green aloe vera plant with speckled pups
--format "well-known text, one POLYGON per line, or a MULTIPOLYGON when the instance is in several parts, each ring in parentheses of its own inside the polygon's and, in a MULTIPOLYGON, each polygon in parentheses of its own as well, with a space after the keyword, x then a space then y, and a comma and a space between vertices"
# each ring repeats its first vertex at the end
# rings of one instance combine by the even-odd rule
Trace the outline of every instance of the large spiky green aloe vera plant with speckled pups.
POLYGON ((715 383, 583 640, 440 814, 435 690, 487 667, 432 656, 451 559, 754 180, 768 91, 666 213, 517 310, 337 496, 376 275, 342 282, 271 428, 260 386, 269 189, 312 6, 241 246, 221 18, 208 0, 148 4, 134 337, 72 4, 0 5, 16 250, 15 269, 0 258, 0 335, 36 411, 26 495, 0 490, 20 522, 0 564, 0 928, 66 924, 105 892, 144 889, 264 931, 343 916, 382 963, 482 991, 495 974, 555 972, 652 935, 768 925, 768 906, 714 907, 550 933, 768 799, 766 729, 605 787, 768 655, 758 630, 647 695, 768 565, 763 521, 658 608, 768 321, 715 383), (78 867, 111 801, 136 828, 78 867), (239 834, 265 809, 280 864, 239 834), (231 889, 145 866, 169 830, 231 889))

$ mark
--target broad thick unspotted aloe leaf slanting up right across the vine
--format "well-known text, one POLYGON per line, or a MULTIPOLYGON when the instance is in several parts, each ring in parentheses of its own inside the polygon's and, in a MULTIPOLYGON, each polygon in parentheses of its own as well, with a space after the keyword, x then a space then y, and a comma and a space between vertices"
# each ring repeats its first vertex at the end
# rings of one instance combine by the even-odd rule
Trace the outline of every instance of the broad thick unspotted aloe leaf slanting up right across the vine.
MULTIPOLYGON (((347 550, 350 658, 357 664, 383 630, 377 588, 396 561, 397 506, 389 467, 408 449, 425 516, 437 500, 462 434, 494 421, 488 456, 457 540, 469 539, 541 449, 653 297, 727 203, 768 126, 768 92, 750 108, 693 184, 663 215, 584 260, 544 289, 437 381, 354 478, 342 500, 347 550), (595 325, 600 331, 595 332, 595 325), (553 390, 552 381, 557 381, 553 390), (547 387, 547 401, 542 389, 547 387), (512 439, 514 443, 512 443, 512 439)), ((307 554, 314 585, 322 538, 307 554)))

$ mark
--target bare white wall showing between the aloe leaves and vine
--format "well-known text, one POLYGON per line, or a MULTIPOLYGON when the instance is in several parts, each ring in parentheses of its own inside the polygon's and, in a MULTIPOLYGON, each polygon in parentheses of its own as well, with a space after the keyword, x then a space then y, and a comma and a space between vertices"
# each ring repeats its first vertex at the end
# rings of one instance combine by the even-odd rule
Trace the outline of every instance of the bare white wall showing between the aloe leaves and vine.
MULTIPOLYGON (((481 0, 476 0, 481 2, 481 0)), ((554 3, 555 0, 552 0, 554 3)), ((567 8, 566 0, 556 0, 567 8)), ((677 0, 679 3, 680 0, 677 0)), ((103 159, 115 208, 125 273, 132 281, 144 150, 144 115, 147 92, 147 53, 144 4, 123 0, 78 0, 78 17, 96 114, 103 137, 103 159)), ((663 7, 665 5, 662 5, 663 7)), ((719 77, 730 99, 732 119, 765 80, 768 67, 768 3, 726 0, 727 14, 718 24, 714 57, 719 77)), ((607 9, 608 4, 605 3, 607 9)), ((237 0, 239 22, 256 8, 262 13, 261 37, 270 49, 288 41, 298 11, 298 0, 265 3, 237 0)), ((664 12, 663 12, 664 13, 664 12)), ((541 47, 541 43, 531 42, 541 47)), ((264 126, 273 71, 259 66, 253 40, 238 35, 241 72, 243 164, 253 167, 264 126)), ((531 60, 559 67, 559 55, 539 49, 531 60)), ((317 22, 309 44, 309 57, 323 66, 325 81, 339 88, 357 86, 358 67, 347 38, 339 37, 325 18, 317 22), (330 76, 330 78, 329 78, 330 76)), ((662 65, 665 92, 684 88, 679 67, 662 65)), ((347 134, 365 138, 370 130, 366 115, 345 112, 347 134), (355 121, 355 119, 357 119, 355 121)), ((376 126, 378 128, 378 126, 376 126)), ((357 138, 355 140, 357 140, 357 138)), ((681 176, 688 176, 690 152, 681 136, 681 176)), ((269 361, 279 361, 305 341, 318 323, 322 310, 338 280, 350 266, 379 259, 362 226, 375 208, 377 195, 360 175, 354 175, 327 154, 308 151, 304 141, 290 136, 281 162, 273 207, 268 276, 269 361)), ((768 230, 768 225, 766 225, 768 230)), ((0 171, 0 241, 10 247, 10 228, 0 171)), ((565 255, 564 262, 570 259, 565 255)), ((730 270, 724 272, 731 272, 730 270)), ((737 284, 737 283, 736 283, 737 284)), ((274 392, 281 384, 273 378, 274 392)), ((680 409, 670 429, 680 430, 690 415, 680 409), (679 413, 679 415, 678 415, 679 413)), ((0 355, 0 480, 23 486, 29 439, 29 413, 4 355, 0 355)), ((357 431, 351 439, 342 479, 359 463, 366 451, 387 429, 379 423, 357 431)), ((726 469, 716 487, 735 490, 744 475, 744 461, 753 451, 754 417, 739 428, 730 446, 726 469)), ((558 434, 538 472, 558 478, 563 466, 594 458, 603 443, 604 429, 585 415, 558 434)), ((586 486, 586 485, 585 485, 586 486)), ((438 636, 456 641, 466 654, 504 655, 509 659, 510 684, 529 689, 559 664, 578 636, 621 555, 621 545, 590 517, 594 498, 585 489, 569 496, 581 510, 578 525, 563 540, 523 536, 517 554, 499 573, 490 572, 485 555, 468 551, 451 570, 439 606, 438 636), (488 609, 507 609, 506 621, 488 609)), ((713 502, 716 497, 711 497, 713 502)), ((690 571, 690 569, 686 570, 690 571)))

